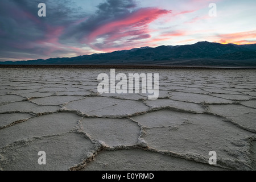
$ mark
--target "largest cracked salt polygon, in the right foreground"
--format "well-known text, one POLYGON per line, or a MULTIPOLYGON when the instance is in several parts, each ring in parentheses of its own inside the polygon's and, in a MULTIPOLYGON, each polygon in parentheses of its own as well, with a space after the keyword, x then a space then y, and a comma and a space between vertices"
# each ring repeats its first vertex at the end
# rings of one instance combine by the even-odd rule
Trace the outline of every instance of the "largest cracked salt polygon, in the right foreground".
POLYGON ((228 163, 229 160, 245 162, 240 169, 249 169, 247 165, 251 162, 248 152, 250 142, 245 139, 253 133, 239 127, 234 128, 232 123, 207 114, 158 112, 134 117, 135 121, 148 127, 144 129, 143 138, 149 147, 180 155, 191 153, 195 158, 198 156, 198 160, 204 156, 205 161, 208 158, 208 152, 214 148, 218 154, 218 160, 224 163, 228 163), (156 121, 154 115, 157 114, 162 116, 159 119, 163 123, 154 122, 156 121))

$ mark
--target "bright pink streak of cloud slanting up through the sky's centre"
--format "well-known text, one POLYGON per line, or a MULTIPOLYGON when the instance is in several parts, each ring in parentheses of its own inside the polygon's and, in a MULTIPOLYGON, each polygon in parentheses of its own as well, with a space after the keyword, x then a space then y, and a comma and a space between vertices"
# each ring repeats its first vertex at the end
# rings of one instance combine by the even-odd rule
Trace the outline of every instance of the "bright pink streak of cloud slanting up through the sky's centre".
MULTIPOLYGON (((93 30, 82 42, 92 46, 97 38, 104 38, 106 42, 113 42, 122 38, 146 39, 150 32, 148 24, 158 19, 164 14, 169 14, 169 10, 158 8, 144 8, 131 13, 126 18, 106 23, 96 30, 93 30)), ((105 49, 104 49, 105 50, 105 49)))

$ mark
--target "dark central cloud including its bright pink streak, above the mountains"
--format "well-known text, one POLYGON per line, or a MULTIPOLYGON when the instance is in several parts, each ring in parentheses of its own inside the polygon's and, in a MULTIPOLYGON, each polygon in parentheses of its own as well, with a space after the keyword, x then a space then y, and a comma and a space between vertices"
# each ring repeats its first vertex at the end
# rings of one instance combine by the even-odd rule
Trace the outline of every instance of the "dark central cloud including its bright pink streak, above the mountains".
POLYGON ((149 24, 169 13, 170 10, 154 7, 138 8, 132 0, 108 0, 98 6, 96 14, 65 36, 73 35, 80 43, 98 51, 114 51, 150 38, 149 24))

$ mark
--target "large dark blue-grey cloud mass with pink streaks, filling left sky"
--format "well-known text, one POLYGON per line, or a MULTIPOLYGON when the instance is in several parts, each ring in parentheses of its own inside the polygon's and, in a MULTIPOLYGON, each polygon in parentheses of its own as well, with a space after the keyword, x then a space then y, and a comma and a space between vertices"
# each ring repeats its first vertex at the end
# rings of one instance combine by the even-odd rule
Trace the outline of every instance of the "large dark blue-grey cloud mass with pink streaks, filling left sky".
POLYGON ((75 2, 1 0, 0 61, 126 48, 136 40, 150 38, 148 24, 170 13, 158 8, 138 8, 133 0, 106 0, 93 7, 93 14, 88 14, 85 6, 79 7, 75 2), (38 16, 39 3, 46 4, 46 17, 38 16))

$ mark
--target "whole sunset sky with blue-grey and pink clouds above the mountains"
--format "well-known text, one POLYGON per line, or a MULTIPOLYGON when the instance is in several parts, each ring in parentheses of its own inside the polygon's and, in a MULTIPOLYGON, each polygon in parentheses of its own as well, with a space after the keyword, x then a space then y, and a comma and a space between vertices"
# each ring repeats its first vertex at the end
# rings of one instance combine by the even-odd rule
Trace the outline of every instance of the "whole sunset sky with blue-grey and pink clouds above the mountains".
POLYGON ((254 44, 255 7, 255 0, 0 0, 0 61, 200 41, 254 44), (38 15, 39 3, 46 16, 38 15))

